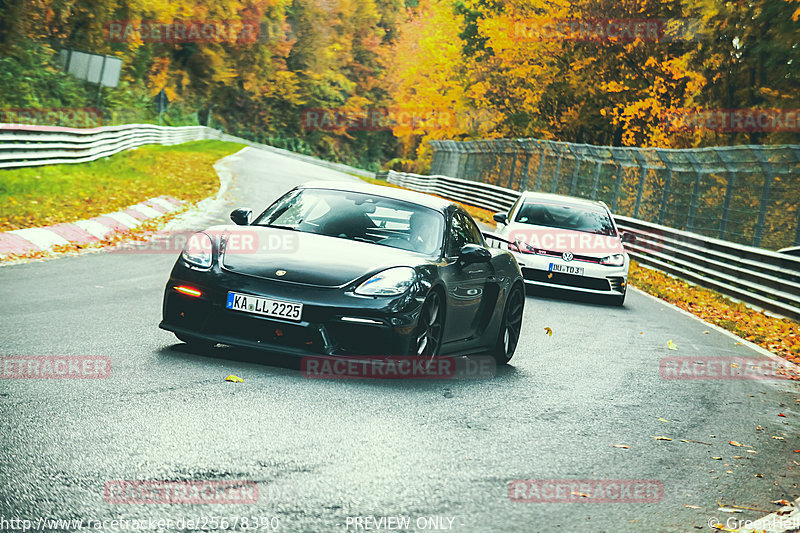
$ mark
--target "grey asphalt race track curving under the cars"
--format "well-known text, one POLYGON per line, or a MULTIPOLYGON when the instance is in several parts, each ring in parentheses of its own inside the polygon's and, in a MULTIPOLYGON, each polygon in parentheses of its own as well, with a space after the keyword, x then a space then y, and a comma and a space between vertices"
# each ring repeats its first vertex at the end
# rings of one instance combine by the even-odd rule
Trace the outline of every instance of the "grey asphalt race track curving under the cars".
MULTIPOLYGON (((234 207, 260 211, 303 181, 355 179, 255 149, 229 164, 224 201, 193 229, 234 207)), ((800 496, 797 382, 664 379, 665 357, 760 355, 638 292, 622 308, 529 294, 512 365, 491 379, 307 379, 280 354, 193 352, 159 330, 176 255, 0 268, 2 355, 107 356, 113 368, 107 379, 0 380, 6 520, 269 517, 278 531, 367 531, 358 524, 377 523, 356 517, 400 516, 411 531, 685 532, 800 496), (258 499, 109 503, 115 480, 248 480, 258 499), (528 503, 510 498, 514 480, 651 480, 663 495, 528 503)))

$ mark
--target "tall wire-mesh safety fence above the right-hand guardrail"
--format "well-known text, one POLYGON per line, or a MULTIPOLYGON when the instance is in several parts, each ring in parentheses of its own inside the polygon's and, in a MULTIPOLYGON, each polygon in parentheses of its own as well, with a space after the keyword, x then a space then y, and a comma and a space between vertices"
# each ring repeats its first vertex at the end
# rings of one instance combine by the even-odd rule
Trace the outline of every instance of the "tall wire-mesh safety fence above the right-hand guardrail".
POLYGON ((615 213, 757 247, 800 245, 800 145, 430 144, 431 174, 603 200, 615 213))

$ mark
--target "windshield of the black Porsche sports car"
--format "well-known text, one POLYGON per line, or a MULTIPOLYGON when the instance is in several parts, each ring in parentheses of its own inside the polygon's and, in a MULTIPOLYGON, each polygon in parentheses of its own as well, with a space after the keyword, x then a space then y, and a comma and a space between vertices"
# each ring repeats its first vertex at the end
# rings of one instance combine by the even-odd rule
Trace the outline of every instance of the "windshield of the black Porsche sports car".
POLYGON ((333 189, 297 189, 254 223, 380 244, 426 255, 442 247, 444 215, 421 205, 333 189))

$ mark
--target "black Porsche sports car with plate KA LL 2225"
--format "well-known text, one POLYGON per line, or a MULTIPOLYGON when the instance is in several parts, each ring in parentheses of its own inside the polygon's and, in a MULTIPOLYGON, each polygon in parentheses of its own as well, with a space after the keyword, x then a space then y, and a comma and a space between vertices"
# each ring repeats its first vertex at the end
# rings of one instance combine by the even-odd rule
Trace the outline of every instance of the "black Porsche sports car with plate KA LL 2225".
POLYGON ((189 239, 160 327, 293 355, 514 354, 525 293, 452 202, 351 182, 296 187, 189 239))

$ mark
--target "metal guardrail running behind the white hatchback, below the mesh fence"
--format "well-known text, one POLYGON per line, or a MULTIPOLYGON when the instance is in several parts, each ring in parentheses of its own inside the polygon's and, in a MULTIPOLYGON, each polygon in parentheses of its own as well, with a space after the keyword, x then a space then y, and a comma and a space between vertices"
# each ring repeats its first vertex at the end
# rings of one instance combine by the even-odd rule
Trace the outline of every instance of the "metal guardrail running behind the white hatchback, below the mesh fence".
MULTIPOLYGON (((389 171, 387 181, 492 211, 507 211, 520 192, 487 183, 389 171)), ((625 248, 641 264, 800 320, 800 258, 615 215, 636 235, 625 248)))

